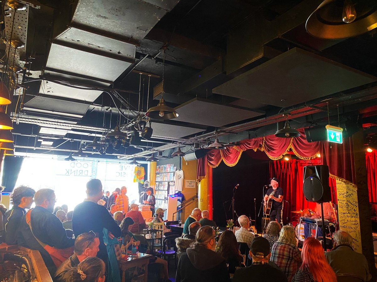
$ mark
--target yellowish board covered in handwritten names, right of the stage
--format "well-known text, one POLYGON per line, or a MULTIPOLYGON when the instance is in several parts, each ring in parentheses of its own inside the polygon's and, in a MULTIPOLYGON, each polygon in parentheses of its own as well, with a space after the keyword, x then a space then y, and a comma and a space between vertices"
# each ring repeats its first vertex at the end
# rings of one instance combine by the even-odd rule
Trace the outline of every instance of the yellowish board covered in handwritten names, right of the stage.
POLYGON ((362 253, 357 186, 345 180, 337 179, 336 190, 338 196, 339 228, 352 236, 354 250, 362 253))

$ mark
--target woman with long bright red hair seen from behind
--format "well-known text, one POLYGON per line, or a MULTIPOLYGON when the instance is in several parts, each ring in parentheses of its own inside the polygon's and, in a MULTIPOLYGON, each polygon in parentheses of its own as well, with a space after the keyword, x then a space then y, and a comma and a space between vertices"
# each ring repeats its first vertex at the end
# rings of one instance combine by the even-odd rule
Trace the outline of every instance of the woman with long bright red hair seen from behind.
POLYGON ((333 268, 326 261, 321 243, 313 237, 302 245, 302 265, 294 274, 292 282, 336 282, 333 268))

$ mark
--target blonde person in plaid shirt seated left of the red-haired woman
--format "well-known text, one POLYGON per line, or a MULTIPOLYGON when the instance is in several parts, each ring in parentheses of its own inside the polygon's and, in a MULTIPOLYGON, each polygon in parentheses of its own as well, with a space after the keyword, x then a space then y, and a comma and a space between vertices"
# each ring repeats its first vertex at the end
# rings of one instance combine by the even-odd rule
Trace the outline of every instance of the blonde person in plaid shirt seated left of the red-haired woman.
POLYGON ((288 281, 292 280, 302 262, 293 227, 283 226, 280 230, 279 239, 272 246, 271 261, 280 267, 288 281))

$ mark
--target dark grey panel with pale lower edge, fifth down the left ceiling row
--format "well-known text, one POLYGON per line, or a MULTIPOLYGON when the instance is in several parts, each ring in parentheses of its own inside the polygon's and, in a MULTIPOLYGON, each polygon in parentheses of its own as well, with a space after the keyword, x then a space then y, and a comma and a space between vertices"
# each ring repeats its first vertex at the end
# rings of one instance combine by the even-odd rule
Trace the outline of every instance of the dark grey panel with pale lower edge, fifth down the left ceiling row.
POLYGON ((34 97, 25 103, 25 110, 49 112, 58 115, 83 117, 89 105, 69 101, 56 100, 46 97, 34 97))

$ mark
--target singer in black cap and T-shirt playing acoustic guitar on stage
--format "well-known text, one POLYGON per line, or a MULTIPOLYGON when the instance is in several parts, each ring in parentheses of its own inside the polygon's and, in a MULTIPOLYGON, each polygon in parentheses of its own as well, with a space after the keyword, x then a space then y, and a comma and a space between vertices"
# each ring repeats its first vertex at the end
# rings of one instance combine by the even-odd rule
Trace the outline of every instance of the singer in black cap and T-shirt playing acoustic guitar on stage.
POLYGON ((272 207, 270 211, 270 221, 277 219, 277 223, 283 226, 282 215, 283 215, 283 196, 284 191, 279 187, 279 180, 276 177, 270 178, 271 188, 269 188, 264 196, 264 205, 266 205, 267 199, 272 200, 272 207), (274 192, 273 195, 271 193, 274 192))

